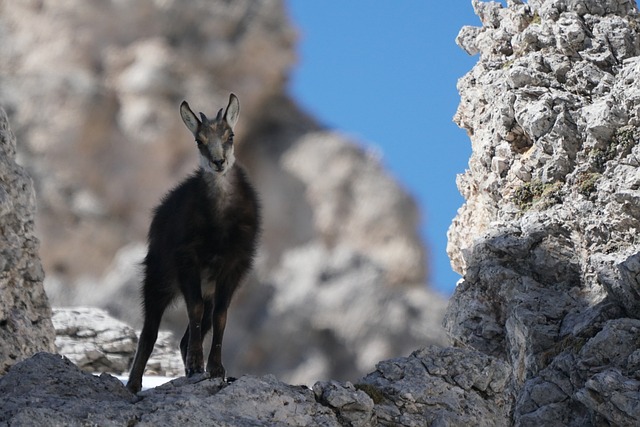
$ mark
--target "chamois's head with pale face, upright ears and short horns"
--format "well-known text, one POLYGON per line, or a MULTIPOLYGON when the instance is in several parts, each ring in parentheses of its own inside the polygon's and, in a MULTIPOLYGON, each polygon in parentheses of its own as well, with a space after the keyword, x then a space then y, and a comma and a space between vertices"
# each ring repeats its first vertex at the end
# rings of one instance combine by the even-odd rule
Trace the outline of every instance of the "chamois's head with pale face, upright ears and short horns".
POLYGON ((220 109, 215 119, 200 113, 196 117, 187 101, 180 104, 180 116, 193 133, 200 151, 200 165, 205 172, 225 174, 235 162, 233 155, 233 127, 240 114, 240 102, 231 94, 229 105, 220 109))

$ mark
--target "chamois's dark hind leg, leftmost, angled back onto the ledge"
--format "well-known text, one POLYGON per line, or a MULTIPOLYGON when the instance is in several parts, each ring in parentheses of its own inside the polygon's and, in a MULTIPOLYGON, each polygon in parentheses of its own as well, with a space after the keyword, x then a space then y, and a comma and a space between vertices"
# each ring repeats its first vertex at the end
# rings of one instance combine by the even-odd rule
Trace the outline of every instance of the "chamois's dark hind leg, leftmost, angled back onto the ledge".
POLYGON ((131 373, 129 374, 129 381, 127 381, 127 388, 132 393, 137 393, 142 388, 144 368, 147 365, 149 356, 151 356, 153 346, 158 339, 160 321, 162 320, 162 314, 167 305, 168 302, 163 302, 162 304, 145 307, 144 326, 142 327, 142 333, 138 340, 138 349, 136 350, 136 356, 133 360, 131 373))

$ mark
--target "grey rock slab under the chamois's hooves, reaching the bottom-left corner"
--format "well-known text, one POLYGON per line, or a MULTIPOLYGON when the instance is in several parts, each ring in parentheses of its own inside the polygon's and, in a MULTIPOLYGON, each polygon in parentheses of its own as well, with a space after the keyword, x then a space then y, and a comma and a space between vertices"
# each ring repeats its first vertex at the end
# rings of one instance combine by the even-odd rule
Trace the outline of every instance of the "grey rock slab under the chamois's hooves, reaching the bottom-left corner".
POLYGON ((11 425, 342 425, 313 391, 273 376, 228 385, 183 377, 136 398, 116 378, 81 372, 47 353, 15 365, 0 378, 0 393, 0 423, 11 425))

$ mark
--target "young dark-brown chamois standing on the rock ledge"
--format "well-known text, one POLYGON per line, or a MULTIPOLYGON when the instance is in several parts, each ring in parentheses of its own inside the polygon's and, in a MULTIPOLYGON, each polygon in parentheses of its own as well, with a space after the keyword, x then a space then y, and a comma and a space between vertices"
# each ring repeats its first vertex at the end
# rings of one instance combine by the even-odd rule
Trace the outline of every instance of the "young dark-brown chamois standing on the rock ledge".
POLYGON ((183 101, 180 115, 193 133, 198 170, 156 208, 149 227, 142 286, 144 326, 127 388, 142 387, 142 374, 158 337, 166 307, 182 294, 189 325, 180 341, 185 373, 203 372, 202 338, 213 326, 207 372, 224 378, 222 337, 231 297, 250 269, 259 232, 256 193, 235 163, 233 127, 240 103, 231 94, 215 119, 200 119, 183 101))

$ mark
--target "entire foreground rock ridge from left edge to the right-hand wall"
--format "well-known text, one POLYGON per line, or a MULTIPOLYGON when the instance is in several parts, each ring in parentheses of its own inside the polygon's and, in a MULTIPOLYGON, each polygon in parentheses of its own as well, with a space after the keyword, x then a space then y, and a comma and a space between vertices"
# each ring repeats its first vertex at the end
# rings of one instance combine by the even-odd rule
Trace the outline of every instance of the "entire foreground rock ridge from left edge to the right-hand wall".
POLYGON ((0 378, 0 425, 499 426, 507 425, 508 380, 496 358, 431 347, 380 362, 356 384, 309 389, 273 375, 230 384, 200 375, 136 397, 108 374, 39 353, 0 378))

